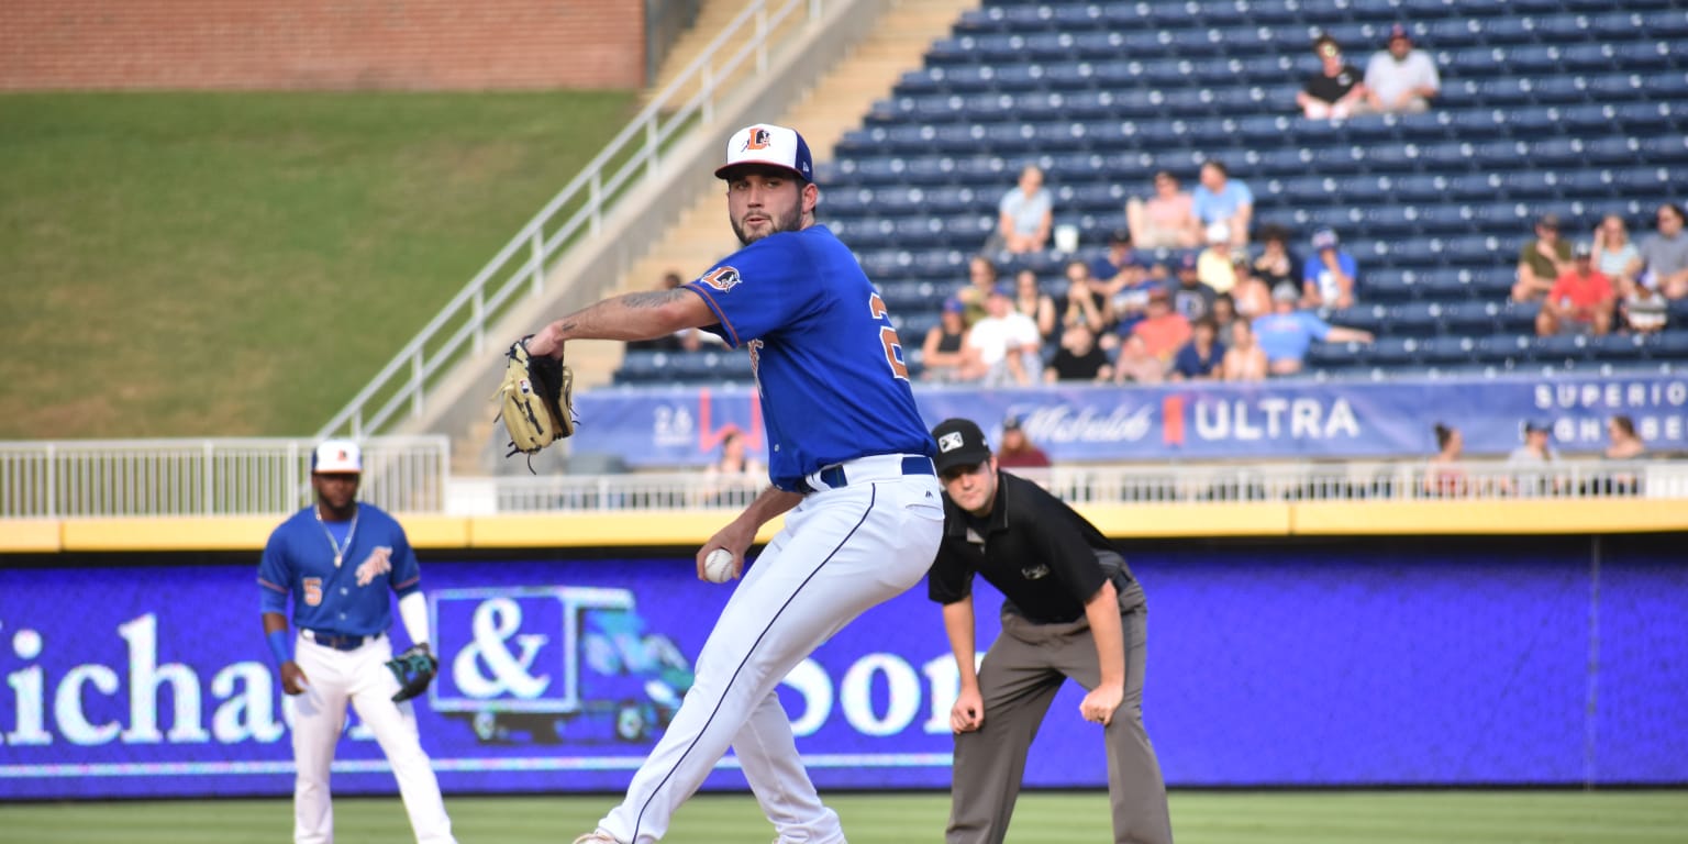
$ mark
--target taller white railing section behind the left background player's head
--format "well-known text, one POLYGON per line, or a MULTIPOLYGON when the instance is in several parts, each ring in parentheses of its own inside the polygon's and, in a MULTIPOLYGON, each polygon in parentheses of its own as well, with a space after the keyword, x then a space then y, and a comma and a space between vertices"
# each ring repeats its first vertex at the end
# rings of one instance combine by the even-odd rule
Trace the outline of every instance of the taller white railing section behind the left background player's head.
MULTIPOLYGON (((302 439, 0 442, 0 518, 277 515, 311 500, 302 439)), ((375 437, 361 498, 444 510, 451 442, 375 437)))

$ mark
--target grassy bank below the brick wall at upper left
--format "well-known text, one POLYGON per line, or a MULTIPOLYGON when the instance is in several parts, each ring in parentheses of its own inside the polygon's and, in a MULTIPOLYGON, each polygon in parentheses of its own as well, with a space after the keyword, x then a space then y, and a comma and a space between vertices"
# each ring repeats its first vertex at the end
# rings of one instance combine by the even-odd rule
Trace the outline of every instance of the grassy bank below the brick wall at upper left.
POLYGON ((0 96, 0 439, 309 436, 636 106, 0 96))

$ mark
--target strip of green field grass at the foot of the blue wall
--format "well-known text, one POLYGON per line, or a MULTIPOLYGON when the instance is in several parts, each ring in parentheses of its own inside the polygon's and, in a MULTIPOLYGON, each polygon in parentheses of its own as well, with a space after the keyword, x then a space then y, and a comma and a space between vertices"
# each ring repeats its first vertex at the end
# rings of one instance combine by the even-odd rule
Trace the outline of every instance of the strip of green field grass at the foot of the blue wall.
MULTIPOLYGON (((569 844, 613 797, 447 798, 463 844, 569 844)), ((940 842, 949 797, 834 795, 851 844, 940 842)), ((243 844, 290 839, 285 800, 0 803, 5 841, 30 844, 243 844)), ((1688 792, 1175 792, 1180 844, 1666 844, 1688 841, 1688 792)), ((412 841, 392 798, 334 802, 336 839, 412 841)), ((704 795, 670 844, 761 844, 773 827, 744 795, 704 795)), ((1014 844, 1111 841, 1107 795, 1021 797, 1014 844)))

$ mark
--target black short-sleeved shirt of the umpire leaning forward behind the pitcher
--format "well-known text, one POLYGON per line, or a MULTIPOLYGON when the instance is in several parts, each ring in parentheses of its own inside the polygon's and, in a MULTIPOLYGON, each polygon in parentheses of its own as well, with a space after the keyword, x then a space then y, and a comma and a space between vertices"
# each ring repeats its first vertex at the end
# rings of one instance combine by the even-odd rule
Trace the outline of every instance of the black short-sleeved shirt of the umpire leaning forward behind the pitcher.
POLYGON ((944 495, 944 542, 927 574, 927 596, 954 604, 972 594, 974 572, 1003 592, 1004 611, 1038 625, 1084 618, 1084 603, 1109 577, 1121 609, 1143 606, 1143 587, 1096 525, 1041 486, 1003 471, 989 517, 974 517, 944 495))

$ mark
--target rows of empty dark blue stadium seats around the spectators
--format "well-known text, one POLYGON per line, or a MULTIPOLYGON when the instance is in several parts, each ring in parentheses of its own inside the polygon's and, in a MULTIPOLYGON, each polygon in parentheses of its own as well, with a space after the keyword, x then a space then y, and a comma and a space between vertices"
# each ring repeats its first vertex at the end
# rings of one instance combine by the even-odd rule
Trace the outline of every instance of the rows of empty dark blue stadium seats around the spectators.
MULTIPOLYGON (((1170 169, 1185 187, 1219 159, 1256 194, 1256 225, 1335 228, 1362 304, 1334 324, 1372 346, 1318 344, 1313 376, 1499 373, 1688 361, 1688 302, 1659 336, 1543 338, 1506 302, 1531 219, 1585 240, 1620 214, 1639 240, 1688 192, 1688 8, 1641 0, 987 0, 903 74, 820 174, 820 218, 886 294, 905 351, 966 282, 1023 164, 1045 169, 1080 257, 1124 225, 1126 197, 1170 169), (1364 68, 1389 27, 1431 52, 1423 115, 1310 122, 1295 91, 1334 35, 1364 68)), ((1060 290, 1063 255, 1023 255, 1060 290)), ((748 378, 741 354, 662 365, 625 383, 748 378)))

